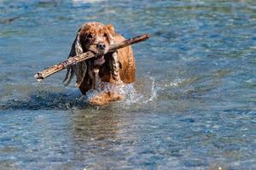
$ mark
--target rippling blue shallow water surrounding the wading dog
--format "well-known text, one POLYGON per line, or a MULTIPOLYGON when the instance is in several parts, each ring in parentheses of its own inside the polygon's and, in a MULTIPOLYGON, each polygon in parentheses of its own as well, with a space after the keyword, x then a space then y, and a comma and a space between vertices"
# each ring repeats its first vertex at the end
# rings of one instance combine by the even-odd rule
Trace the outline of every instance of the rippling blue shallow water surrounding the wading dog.
POLYGON ((2 0, 0 51, 0 169, 256 169, 253 0, 2 0), (151 35, 101 107, 33 78, 92 20, 151 35))

